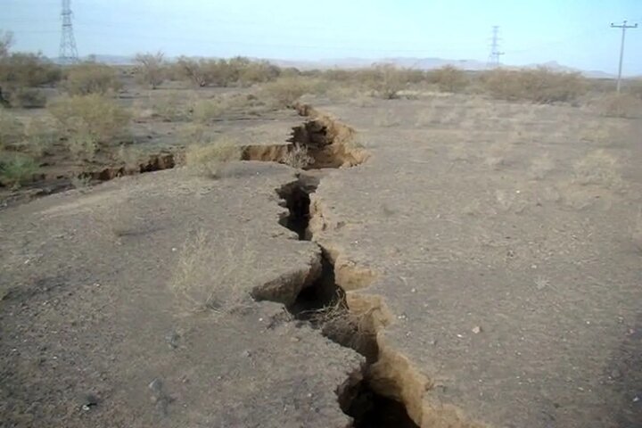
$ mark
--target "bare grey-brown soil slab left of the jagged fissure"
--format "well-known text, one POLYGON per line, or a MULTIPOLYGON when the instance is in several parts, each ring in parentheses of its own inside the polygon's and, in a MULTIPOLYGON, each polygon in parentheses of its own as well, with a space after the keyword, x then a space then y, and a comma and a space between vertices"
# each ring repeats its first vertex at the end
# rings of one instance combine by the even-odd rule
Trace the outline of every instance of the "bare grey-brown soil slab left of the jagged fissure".
POLYGON ((4 210, 1 425, 347 426, 363 358, 281 304, 320 263, 279 225, 293 180, 174 169, 4 210))

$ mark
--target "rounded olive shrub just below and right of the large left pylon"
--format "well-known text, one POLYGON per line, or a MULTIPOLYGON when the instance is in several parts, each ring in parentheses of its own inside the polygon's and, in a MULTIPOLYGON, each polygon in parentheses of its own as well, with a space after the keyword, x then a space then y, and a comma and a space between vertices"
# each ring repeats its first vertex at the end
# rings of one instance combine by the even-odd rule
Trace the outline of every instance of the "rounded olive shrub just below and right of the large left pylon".
POLYGON ((70 95, 105 95, 122 87, 115 69, 94 62, 71 66, 62 86, 70 95))

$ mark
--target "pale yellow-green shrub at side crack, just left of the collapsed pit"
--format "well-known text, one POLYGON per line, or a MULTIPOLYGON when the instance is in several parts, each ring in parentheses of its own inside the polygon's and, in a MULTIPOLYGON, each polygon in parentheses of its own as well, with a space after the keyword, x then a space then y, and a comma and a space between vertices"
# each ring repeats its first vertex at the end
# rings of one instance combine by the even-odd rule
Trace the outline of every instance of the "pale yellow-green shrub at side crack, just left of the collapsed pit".
POLYGON ((188 146, 185 165, 195 169, 199 175, 216 178, 227 162, 240 161, 242 156, 243 149, 235 141, 218 139, 188 146))

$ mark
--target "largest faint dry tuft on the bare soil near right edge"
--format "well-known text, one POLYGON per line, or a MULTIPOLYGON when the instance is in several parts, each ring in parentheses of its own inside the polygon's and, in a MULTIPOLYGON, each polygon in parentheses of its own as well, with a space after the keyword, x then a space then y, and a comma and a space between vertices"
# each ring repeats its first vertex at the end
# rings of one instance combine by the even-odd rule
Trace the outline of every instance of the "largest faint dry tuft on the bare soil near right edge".
POLYGON ((579 185, 603 185, 619 187, 621 176, 617 168, 618 159, 603 149, 589 152, 573 165, 575 183, 579 185))

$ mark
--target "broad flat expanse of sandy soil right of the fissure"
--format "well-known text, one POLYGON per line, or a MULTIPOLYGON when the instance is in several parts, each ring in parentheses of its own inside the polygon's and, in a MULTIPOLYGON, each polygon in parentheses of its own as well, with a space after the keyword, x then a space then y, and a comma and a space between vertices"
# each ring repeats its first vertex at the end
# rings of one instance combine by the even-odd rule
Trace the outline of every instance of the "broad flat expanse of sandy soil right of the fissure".
POLYGON ((639 426, 639 122, 319 103, 372 154, 322 181, 310 228, 352 309, 379 314, 374 385, 426 427, 639 426))

